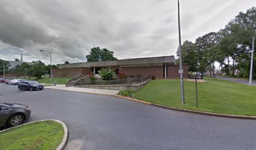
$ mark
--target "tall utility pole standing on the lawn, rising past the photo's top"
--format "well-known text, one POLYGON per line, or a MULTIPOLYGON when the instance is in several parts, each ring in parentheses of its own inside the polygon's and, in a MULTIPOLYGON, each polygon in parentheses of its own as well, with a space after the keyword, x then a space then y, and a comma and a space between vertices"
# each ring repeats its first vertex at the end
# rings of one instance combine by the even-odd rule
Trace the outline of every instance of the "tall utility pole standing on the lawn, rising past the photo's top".
POLYGON ((182 54, 181 54, 181 23, 179 19, 179 0, 178 0, 178 26, 179 26, 179 74, 181 75, 181 101, 182 101, 182 104, 185 104, 184 84, 183 84, 183 66, 182 66, 182 54))

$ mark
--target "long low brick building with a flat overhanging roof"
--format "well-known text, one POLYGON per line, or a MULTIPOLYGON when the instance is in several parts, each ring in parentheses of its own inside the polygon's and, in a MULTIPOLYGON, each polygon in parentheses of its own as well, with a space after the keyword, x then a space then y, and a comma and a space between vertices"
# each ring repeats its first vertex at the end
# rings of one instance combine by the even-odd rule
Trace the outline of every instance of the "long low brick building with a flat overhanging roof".
MULTIPOLYGON (((155 58, 120 59, 117 61, 100 61, 89 63, 57 64, 58 69, 53 69, 53 77, 74 77, 89 74, 91 71, 98 74, 102 68, 124 71, 132 76, 156 76, 157 79, 179 78, 179 66, 175 63, 174 56, 155 58)), ((188 78, 188 66, 183 65, 184 78, 188 78)))

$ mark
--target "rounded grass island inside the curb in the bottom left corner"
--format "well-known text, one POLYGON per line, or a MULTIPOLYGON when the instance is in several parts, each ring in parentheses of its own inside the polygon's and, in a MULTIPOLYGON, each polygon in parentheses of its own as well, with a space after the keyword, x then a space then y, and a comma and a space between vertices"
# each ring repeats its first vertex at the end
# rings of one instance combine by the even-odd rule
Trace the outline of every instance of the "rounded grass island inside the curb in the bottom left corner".
POLYGON ((56 149, 63 135, 56 121, 32 123, 0 133, 0 149, 56 149))

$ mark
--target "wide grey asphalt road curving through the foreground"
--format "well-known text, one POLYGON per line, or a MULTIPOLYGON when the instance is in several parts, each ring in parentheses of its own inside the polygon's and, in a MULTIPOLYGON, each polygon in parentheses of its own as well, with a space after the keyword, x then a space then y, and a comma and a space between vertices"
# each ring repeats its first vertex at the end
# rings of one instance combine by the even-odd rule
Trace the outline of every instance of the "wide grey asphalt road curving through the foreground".
POLYGON ((256 121, 182 113, 115 96, 0 84, 0 102, 32 110, 29 121, 59 119, 67 149, 255 149, 256 121))

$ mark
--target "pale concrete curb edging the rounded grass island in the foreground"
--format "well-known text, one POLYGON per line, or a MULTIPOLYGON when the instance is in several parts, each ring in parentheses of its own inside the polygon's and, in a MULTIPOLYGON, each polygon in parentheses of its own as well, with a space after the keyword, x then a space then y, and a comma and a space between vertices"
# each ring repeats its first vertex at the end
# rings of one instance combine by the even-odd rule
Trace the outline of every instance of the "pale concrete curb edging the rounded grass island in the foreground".
POLYGON ((31 123, 26 123, 26 124, 21 124, 19 126, 14 126, 12 128, 8 128, 8 129, 4 129, 2 131, 0 131, 0 133, 3 133, 4 131, 8 131, 10 129, 15 129, 15 128, 18 128, 20 126, 25 126, 27 124, 33 124, 33 123, 38 123, 38 122, 43 122, 43 121, 56 121, 58 123, 60 123, 64 129, 64 135, 63 135, 63 139, 61 141, 61 143, 59 144, 59 146, 56 148, 56 150, 62 150, 65 148, 66 144, 67 144, 67 139, 68 139, 68 128, 66 126, 65 123, 63 123, 62 121, 58 121, 58 120, 55 120, 55 119, 47 119, 47 120, 40 120, 40 121, 33 121, 31 123))

